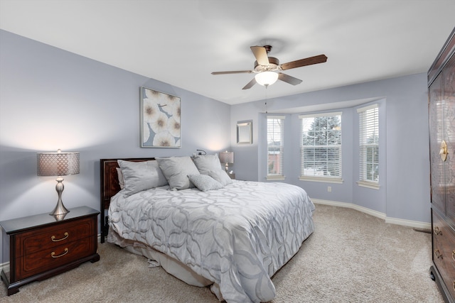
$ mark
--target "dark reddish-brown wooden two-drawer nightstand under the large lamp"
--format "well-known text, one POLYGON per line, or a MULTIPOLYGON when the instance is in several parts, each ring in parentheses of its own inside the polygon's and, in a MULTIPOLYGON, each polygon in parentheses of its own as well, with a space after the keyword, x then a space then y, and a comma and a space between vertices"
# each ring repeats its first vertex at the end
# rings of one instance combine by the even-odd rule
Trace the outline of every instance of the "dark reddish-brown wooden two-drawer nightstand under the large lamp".
POLYGON ((97 254, 97 216, 87 206, 70 209, 63 219, 38 214, 1 221, 3 263, 1 280, 8 295, 22 285, 53 277, 81 263, 100 260, 97 254))

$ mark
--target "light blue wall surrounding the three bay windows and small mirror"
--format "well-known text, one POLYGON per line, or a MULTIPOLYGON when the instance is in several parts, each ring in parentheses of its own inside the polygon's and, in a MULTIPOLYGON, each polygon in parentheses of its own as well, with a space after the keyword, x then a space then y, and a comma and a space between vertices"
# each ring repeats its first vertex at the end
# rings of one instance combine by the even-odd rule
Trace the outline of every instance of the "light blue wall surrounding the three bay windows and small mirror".
MULTIPOLYGON (((304 85, 304 84, 302 84, 304 85)), ((268 89, 273 89, 269 87, 268 89)), ((354 203, 379 211, 390 219, 429 223, 429 148, 427 114, 427 75, 416 74, 317 92, 267 100, 267 111, 294 112, 302 106, 333 104, 342 111, 343 184, 299 181, 299 119, 285 119, 285 182, 299 185, 314 199, 354 203), (378 99, 380 103, 380 189, 358 187, 358 114, 356 108, 336 104, 346 101, 378 99), (291 162, 289 162, 289 160, 291 162), (327 192, 327 187, 332 192, 327 192)), ((231 106, 231 123, 252 119, 253 144, 236 145, 236 177, 264 181, 265 102, 255 101, 231 106), (240 165, 237 165, 240 163, 240 165)))

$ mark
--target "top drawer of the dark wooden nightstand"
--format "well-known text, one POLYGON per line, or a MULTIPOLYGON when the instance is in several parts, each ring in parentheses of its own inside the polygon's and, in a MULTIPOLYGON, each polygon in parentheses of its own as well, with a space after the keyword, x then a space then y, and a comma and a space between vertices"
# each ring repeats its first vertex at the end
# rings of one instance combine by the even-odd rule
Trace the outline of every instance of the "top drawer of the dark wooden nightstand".
POLYGON ((38 231, 28 231, 16 236, 16 255, 28 255, 45 248, 63 245, 80 238, 87 238, 93 231, 92 219, 56 224, 38 231))

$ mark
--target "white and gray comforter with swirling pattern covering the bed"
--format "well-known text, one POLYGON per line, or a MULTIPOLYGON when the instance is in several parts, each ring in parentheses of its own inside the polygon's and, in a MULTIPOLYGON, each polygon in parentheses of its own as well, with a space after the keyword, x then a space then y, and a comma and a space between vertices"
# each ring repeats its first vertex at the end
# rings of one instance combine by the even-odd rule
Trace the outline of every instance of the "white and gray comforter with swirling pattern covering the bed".
POLYGON ((314 204, 284 183, 234 181, 200 192, 158 187, 112 197, 109 224, 217 283, 227 302, 275 297, 270 277, 314 231, 314 204))

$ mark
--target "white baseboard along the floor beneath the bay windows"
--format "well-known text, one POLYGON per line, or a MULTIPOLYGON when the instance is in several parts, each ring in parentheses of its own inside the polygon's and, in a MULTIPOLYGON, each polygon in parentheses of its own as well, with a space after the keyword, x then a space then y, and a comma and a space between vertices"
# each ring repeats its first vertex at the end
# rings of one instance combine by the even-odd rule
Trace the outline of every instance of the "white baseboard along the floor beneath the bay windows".
POLYGON ((361 211, 365 214, 369 214, 371 216, 375 216, 382 220, 385 220, 385 223, 389 223, 389 224, 410 226, 410 227, 414 227, 414 228, 422 228, 422 229, 429 229, 429 230, 432 229, 431 223, 411 221, 411 220, 406 220, 406 219, 390 218, 390 217, 387 217, 386 214, 384 214, 380 211, 374 211, 373 209, 368 209, 366 207, 359 206, 359 205, 356 205, 353 203, 336 202, 336 201, 313 199, 313 198, 311 198, 311 201, 313 201, 314 204, 326 204, 326 205, 331 205, 331 206, 346 207, 348 209, 355 209, 356 211, 361 211))

